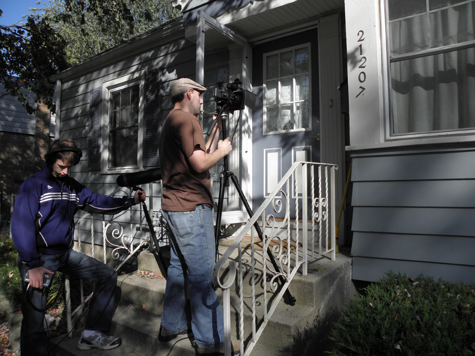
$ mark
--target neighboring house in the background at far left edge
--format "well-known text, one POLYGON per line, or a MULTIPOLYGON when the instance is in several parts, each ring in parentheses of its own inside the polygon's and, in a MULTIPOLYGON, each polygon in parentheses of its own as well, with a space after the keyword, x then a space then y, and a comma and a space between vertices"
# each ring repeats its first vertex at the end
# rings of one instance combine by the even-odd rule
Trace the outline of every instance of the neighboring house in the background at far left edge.
POLYGON ((37 110, 35 115, 29 115, 16 98, 4 95, 0 84, 1 215, 7 220, 11 197, 26 178, 43 169, 44 154, 54 137, 55 116, 45 105, 34 103, 33 94, 25 92, 37 110))

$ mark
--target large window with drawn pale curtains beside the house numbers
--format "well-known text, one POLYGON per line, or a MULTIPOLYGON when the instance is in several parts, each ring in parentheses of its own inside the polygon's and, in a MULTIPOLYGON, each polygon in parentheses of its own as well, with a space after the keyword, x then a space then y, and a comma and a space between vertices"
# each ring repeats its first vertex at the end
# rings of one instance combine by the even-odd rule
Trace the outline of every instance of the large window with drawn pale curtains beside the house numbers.
POLYGON ((390 135, 475 129, 475 2, 386 0, 390 135))

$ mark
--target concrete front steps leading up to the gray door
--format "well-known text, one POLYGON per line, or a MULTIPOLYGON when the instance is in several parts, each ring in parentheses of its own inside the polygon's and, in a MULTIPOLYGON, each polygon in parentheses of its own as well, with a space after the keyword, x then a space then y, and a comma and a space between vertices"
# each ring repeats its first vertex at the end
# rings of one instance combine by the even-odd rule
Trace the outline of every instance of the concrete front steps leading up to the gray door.
MULTIPOLYGON (((315 339, 315 335, 321 333, 321 330, 315 328, 322 329, 323 327, 328 331, 327 317, 336 318, 335 311, 344 305, 348 298, 352 298, 354 293, 351 283, 351 259, 348 257, 349 254, 345 255, 341 252, 337 254, 336 261, 322 257, 310 263, 307 276, 301 276, 298 273, 294 276, 290 284, 290 292, 297 299, 296 305, 289 306, 282 301, 279 302, 252 350, 252 356, 305 355, 305 350, 308 350, 309 345, 312 345, 309 355, 321 355, 315 352, 316 349, 321 348, 320 340, 315 339), (300 350, 299 354, 295 354, 293 350, 300 350)), ((247 252, 244 251, 245 253, 247 252)), ((142 252, 138 261, 139 270, 158 273, 158 266, 156 262, 153 263, 154 260, 155 257, 152 254, 142 252), (144 264, 145 260, 148 260, 147 263, 150 262, 150 264, 144 264)), ((195 351, 191 347, 192 338, 180 336, 168 344, 160 343, 157 339, 160 316, 163 311, 165 279, 146 278, 138 276, 137 273, 131 273, 119 276, 117 285, 116 302, 119 304, 113 317, 110 334, 120 336, 123 345, 120 348, 107 351, 108 355, 194 355, 195 351), (127 352, 124 354, 125 350, 127 352)), ((248 274, 244 278, 243 291, 244 344, 247 345, 251 339, 250 322, 252 320, 251 287, 248 274)), ((268 290, 268 292, 270 291, 268 290)), ((222 293, 219 289, 217 294, 222 302, 222 293)), ((232 297, 231 303, 232 308, 237 311, 239 301, 236 295, 232 297)), ((257 311, 263 308, 261 291, 257 294, 255 304, 257 311)), ((257 320, 260 324, 263 322, 262 315, 257 313, 257 320)), ((231 317, 232 337, 235 339, 238 339, 237 317, 237 312, 233 313, 231 317)), ((320 339, 323 338, 324 335, 320 336, 320 339)), ((80 351, 76 347, 78 340, 78 333, 72 339, 65 340, 58 347, 55 355, 79 355, 80 351)), ((54 356, 54 354, 52 355, 54 356)), ((95 354, 90 353, 89 355, 95 354)))

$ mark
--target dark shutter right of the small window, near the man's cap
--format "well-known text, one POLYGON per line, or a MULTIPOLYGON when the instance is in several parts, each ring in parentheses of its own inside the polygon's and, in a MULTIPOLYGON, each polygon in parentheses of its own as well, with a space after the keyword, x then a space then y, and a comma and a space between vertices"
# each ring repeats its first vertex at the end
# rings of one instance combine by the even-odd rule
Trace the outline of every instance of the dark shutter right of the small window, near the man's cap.
POLYGON ((145 76, 144 167, 159 167, 158 139, 162 124, 161 69, 148 71, 145 76))

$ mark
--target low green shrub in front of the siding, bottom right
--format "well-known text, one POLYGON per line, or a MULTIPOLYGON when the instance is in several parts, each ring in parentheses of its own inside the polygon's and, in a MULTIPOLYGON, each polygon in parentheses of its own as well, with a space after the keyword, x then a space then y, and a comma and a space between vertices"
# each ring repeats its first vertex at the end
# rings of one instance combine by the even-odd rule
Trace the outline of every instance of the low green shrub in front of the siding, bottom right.
POLYGON ((389 272, 342 309, 332 356, 475 355, 475 284, 389 272))

